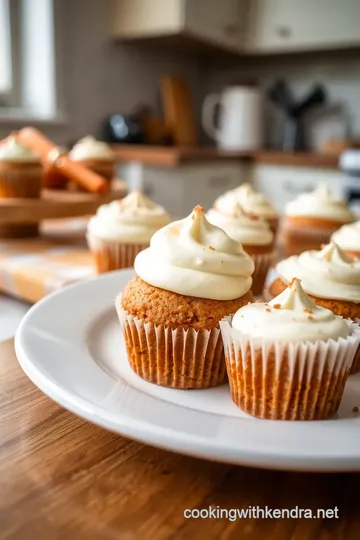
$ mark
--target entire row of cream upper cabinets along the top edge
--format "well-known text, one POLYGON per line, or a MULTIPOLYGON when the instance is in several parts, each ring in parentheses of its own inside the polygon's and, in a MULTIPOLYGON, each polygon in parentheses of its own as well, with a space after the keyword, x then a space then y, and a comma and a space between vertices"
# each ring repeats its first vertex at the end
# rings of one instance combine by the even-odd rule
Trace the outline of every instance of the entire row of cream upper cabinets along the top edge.
POLYGON ((115 0, 112 34, 170 37, 238 54, 360 45, 360 0, 115 0))

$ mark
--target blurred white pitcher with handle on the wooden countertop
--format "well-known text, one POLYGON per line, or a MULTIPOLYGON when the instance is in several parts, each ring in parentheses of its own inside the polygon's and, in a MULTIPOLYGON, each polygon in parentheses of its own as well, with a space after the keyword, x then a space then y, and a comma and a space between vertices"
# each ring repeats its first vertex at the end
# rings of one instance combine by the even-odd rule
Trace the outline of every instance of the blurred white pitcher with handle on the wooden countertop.
POLYGON ((209 94, 203 103, 202 123, 206 133, 224 150, 258 150, 263 143, 263 103, 252 86, 231 86, 222 94, 209 94), (220 105, 218 126, 214 115, 220 105))

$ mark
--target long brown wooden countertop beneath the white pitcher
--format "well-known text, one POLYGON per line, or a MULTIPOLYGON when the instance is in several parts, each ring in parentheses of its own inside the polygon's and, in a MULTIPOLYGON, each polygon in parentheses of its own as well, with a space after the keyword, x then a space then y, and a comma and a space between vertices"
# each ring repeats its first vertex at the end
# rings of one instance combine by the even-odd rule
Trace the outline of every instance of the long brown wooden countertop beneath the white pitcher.
POLYGON ((167 147, 146 145, 113 145, 119 162, 140 161, 147 165, 176 167, 183 163, 238 161, 292 167, 338 169, 339 156, 310 152, 230 152, 211 146, 167 147))

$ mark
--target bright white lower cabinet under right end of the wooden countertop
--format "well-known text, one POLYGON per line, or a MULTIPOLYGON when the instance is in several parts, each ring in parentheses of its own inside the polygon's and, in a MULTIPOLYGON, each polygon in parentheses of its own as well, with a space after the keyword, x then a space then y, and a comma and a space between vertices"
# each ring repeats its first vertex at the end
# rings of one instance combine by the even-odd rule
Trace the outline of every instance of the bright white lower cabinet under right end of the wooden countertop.
POLYGON ((254 165, 251 168, 251 179, 255 188, 267 195, 279 212, 283 212, 285 204, 300 193, 313 191, 320 184, 328 186, 336 196, 344 195, 344 179, 340 171, 254 165))

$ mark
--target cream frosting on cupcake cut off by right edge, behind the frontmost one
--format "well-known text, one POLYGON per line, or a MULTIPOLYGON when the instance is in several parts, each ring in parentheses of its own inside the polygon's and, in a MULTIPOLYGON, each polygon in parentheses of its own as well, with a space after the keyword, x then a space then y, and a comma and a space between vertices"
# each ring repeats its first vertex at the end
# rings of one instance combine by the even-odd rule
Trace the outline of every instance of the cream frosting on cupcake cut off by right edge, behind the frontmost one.
POLYGON ((276 265, 283 281, 302 280, 308 294, 319 298, 360 302, 360 260, 348 257, 335 242, 320 251, 304 251, 276 265))

